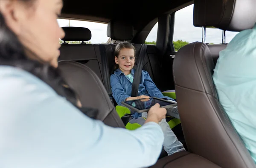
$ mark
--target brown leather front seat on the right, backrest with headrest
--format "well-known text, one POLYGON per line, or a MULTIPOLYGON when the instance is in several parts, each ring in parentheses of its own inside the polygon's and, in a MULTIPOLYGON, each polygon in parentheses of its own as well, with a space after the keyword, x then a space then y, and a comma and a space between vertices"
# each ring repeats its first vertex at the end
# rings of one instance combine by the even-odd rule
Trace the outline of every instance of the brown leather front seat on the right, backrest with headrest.
MULTIPOLYGON (((256 22, 255 0, 195 0, 194 3, 194 26, 241 31, 252 28, 256 22)), ((175 56, 173 72, 183 133, 191 153, 222 168, 255 168, 218 101, 212 80, 216 52, 224 48, 194 42, 182 47, 175 56)))

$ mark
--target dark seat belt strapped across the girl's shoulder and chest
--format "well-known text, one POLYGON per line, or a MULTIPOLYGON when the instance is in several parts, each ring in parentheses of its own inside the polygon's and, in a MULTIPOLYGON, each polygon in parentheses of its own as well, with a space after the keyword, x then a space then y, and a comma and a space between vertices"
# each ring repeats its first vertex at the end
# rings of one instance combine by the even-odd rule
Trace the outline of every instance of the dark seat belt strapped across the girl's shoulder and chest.
POLYGON ((138 96, 139 86, 140 86, 140 79, 142 74, 142 68, 143 68, 143 62, 145 58, 145 54, 147 52, 147 45, 143 44, 140 49, 140 55, 139 60, 137 64, 137 68, 134 74, 134 81, 132 83, 132 89, 131 89, 131 97, 138 96))

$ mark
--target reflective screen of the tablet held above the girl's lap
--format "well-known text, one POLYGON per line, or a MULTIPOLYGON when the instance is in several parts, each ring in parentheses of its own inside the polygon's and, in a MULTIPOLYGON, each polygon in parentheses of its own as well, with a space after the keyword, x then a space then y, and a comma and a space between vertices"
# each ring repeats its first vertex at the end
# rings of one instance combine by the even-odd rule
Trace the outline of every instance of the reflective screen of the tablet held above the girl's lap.
POLYGON ((175 103, 172 103, 172 102, 162 101, 162 100, 159 100, 159 99, 156 99, 156 98, 148 98, 148 99, 141 99, 141 100, 130 100, 130 101, 125 101, 125 103, 129 104, 130 106, 135 107, 139 110, 148 109, 148 108, 154 106, 154 104, 156 104, 156 103, 159 103, 160 107, 175 104, 175 103))

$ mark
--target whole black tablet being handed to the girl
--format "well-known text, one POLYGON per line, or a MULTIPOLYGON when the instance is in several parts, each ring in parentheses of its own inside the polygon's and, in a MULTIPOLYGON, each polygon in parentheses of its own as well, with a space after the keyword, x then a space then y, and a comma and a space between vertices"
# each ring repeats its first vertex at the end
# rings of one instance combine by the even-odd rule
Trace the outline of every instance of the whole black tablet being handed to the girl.
POLYGON ((131 110, 135 110, 137 113, 148 112, 150 107, 154 106, 154 104, 159 103, 160 107, 169 108, 171 106, 177 106, 175 101, 167 101, 160 98, 150 97, 150 98, 141 98, 135 100, 122 101, 126 107, 131 110))

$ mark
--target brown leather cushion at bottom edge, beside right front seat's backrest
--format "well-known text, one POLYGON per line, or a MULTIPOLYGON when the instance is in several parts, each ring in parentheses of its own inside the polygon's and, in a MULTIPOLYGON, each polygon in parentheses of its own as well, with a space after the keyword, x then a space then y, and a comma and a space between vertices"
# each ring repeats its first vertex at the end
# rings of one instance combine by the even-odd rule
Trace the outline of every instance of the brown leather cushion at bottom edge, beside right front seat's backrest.
POLYGON ((182 151, 159 159, 150 168, 220 168, 201 156, 182 151))

